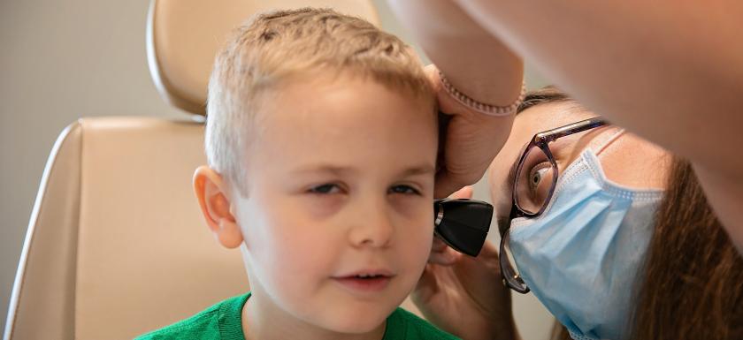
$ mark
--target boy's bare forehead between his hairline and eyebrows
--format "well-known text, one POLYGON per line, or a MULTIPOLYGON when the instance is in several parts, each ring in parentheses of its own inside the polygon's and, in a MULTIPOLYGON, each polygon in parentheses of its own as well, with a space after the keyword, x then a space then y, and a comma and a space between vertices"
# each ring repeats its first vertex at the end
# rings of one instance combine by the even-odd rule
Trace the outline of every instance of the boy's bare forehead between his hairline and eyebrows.
POLYGON ((255 146, 281 155, 380 156, 383 147, 398 162, 413 153, 431 158, 438 145, 433 105, 368 80, 290 82, 263 101, 255 146))

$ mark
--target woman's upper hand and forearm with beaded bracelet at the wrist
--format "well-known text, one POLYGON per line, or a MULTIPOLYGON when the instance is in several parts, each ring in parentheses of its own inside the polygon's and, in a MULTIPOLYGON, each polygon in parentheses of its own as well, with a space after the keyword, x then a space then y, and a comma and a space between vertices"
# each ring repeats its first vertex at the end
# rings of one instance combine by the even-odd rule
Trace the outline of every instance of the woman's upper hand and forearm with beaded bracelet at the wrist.
POLYGON ((493 117, 469 110, 441 87, 437 67, 457 90, 496 106, 516 101, 524 80, 524 63, 490 34, 458 1, 388 1, 425 54, 437 66, 425 71, 436 91, 440 111, 450 118, 441 132, 440 171, 434 195, 447 197, 482 178, 508 138, 513 116, 493 117))

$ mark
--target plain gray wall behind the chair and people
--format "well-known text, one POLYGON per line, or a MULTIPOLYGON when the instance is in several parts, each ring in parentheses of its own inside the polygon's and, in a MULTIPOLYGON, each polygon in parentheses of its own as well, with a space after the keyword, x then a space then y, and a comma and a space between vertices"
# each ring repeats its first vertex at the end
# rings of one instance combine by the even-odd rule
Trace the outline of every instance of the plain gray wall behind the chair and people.
MULTIPOLYGON (((383 26, 410 42, 383 1, 383 26)), ((0 325, 28 218, 50 149, 78 117, 188 116, 165 105, 149 79, 144 36, 149 0, 0 1, 0 325)), ((541 85, 529 75, 530 85, 541 85)), ((486 186, 476 195, 486 199, 486 186)), ((501 283, 494 283, 501 284, 501 283)), ((551 319, 515 297, 525 339, 545 338, 551 319)))

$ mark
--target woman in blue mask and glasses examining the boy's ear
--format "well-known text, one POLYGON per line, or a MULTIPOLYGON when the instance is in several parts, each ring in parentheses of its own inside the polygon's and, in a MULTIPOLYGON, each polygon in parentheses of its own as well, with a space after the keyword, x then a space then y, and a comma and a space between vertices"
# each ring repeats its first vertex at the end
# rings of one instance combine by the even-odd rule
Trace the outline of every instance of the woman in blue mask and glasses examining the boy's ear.
POLYGON ((502 268, 510 288, 531 290, 574 338, 741 337, 743 3, 391 5, 439 67, 431 79, 440 110, 452 116, 437 194, 473 183, 501 151, 492 189, 513 259, 500 263, 488 247, 473 260, 436 246, 432 261, 446 266, 432 265, 417 291, 430 320, 468 339, 513 338, 509 291, 494 287, 502 268), (517 54, 628 131, 589 121, 554 143, 534 140, 545 155, 552 146, 563 154, 540 162, 536 178, 554 181, 544 190, 532 184, 532 200, 511 194, 528 193, 531 177, 511 185, 509 166, 539 155, 519 153, 532 135, 575 132, 551 129, 581 121, 586 110, 545 94, 550 103, 514 120, 517 54))

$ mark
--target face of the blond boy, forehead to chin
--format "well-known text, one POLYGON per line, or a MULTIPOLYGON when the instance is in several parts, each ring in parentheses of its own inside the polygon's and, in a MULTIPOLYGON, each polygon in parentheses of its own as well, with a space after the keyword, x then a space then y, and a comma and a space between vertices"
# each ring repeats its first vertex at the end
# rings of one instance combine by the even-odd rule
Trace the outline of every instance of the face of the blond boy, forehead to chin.
POLYGON ((368 332, 413 289, 431 250, 433 108, 369 79, 292 83, 264 96, 243 163, 248 197, 232 204, 247 308, 368 332))

